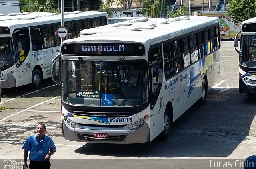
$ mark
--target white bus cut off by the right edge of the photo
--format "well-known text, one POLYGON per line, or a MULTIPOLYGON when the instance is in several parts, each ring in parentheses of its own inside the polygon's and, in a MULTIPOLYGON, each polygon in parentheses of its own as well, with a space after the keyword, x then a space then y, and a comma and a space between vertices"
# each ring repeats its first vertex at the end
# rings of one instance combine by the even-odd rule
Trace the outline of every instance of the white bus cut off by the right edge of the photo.
POLYGON ((248 96, 256 94, 256 17, 242 22, 241 31, 234 38, 239 53, 239 92, 248 96), (240 50, 238 47, 240 38, 240 50))

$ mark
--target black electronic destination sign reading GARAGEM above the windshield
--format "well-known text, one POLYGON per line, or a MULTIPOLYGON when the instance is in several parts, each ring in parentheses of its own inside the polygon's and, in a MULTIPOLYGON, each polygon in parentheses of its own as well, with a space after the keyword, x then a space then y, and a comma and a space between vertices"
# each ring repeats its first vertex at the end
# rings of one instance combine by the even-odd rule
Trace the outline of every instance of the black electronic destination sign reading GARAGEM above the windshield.
POLYGON ((130 43, 76 43, 62 46, 63 55, 134 55, 142 56, 145 48, 130 43))

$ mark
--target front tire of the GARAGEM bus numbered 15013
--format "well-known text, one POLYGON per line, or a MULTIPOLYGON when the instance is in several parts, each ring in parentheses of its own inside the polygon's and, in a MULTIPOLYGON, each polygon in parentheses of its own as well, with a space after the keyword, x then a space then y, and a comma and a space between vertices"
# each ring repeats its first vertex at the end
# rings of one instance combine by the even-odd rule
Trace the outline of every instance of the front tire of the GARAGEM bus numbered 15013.
POLYGON ((170 116, 170 112, 170 108, 166 107, 164 111, 164 131, 162 131, 162 133, 160 133, 159 135, 159 139, 161 141, 167 140, 170 135, 170 130, 172 126, 172 118, 170 116))

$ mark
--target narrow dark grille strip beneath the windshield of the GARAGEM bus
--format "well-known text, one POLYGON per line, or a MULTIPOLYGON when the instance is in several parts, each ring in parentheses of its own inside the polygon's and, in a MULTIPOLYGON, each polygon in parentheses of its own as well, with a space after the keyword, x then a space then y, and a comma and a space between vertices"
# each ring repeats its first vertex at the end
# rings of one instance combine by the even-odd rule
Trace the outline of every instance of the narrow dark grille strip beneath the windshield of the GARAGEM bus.
POLYGON ((78 110, 71 110, 70 113, 88 117, 129 117, 134 114, 132 112, 86 112, 78 110))

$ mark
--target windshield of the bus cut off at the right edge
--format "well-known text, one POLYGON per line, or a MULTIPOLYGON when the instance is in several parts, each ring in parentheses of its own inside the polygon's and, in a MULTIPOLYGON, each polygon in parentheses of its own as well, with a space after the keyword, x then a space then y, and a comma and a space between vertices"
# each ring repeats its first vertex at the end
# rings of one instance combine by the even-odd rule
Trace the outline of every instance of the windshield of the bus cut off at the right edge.
POLYGON ((256 35, 243 35, 239 62, 246 67, 256 67, 256 35))

